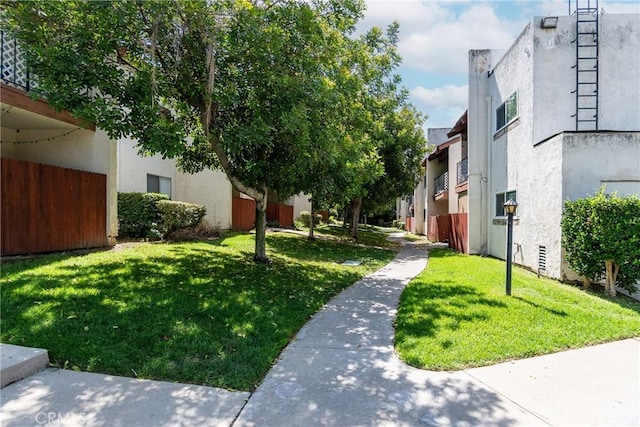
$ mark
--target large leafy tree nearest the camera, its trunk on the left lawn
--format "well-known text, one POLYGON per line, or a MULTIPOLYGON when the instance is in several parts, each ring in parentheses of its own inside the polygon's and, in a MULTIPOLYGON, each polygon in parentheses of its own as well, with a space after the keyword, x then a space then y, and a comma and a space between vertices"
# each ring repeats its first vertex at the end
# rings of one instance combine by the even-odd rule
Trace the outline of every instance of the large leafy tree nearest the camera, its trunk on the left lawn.
POLYGON ((342 90, 327 76, 362 11, 361 0, 40 0, 2 18, 35 95, 187 171, 222 168, 256 200, 265 261, 267 194, 304 189, 311 129, 340 119, 312 112, 342 90))

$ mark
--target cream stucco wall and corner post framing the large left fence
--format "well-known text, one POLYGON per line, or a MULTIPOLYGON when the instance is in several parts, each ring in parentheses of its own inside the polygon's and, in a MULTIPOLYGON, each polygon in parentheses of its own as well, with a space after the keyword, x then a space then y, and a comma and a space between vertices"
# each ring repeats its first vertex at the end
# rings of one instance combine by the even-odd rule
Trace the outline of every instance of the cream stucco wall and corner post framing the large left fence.
POLYGON ((65 136, 59 136, 69 132, 63 129, 16 131, 2 128, 1 132, 2 157, 107 175, 106 234, 109 240, 113 241, 118 235, 115 141, 109 139, 109 136, 100 129, 96 131, 77 129, 65 136), (47 141, 48 138, 53 139, 47 141))

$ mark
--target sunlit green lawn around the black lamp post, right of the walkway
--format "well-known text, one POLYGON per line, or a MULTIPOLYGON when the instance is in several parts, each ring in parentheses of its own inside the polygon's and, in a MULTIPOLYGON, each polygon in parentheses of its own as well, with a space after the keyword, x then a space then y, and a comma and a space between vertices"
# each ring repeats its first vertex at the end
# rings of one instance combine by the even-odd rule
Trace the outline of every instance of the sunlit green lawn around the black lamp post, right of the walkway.
POLYGON ((505 296, 505 263, 430 252, 427 269, 402 294, 396 348, 431 370, 510 359, 640 336, 640 303, 590 294, 514 268, 505 296))

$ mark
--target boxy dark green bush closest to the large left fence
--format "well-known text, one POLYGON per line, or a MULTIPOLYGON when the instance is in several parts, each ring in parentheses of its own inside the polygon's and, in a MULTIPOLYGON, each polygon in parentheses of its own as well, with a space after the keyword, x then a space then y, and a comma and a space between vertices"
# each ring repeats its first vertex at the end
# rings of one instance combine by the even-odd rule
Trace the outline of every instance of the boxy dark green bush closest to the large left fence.
POLYGON ((168 200, 166 194, 118 193, 118 233, 122 237, 160 238, 160 212, 156 206, 160 200, 168 200))

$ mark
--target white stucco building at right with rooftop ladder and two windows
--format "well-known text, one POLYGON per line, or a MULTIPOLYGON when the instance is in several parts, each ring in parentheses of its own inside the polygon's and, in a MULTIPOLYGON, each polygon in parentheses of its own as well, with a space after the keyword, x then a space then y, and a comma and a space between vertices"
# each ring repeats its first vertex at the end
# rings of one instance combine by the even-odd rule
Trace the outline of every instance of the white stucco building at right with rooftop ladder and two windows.
POLYGON ((469 52, 469 250, 554 278, 563 203, 640 194, 640 15, 536 17, 504 53, 469 52))

